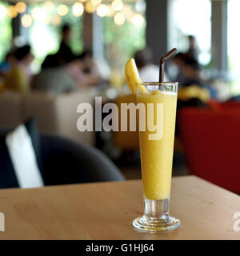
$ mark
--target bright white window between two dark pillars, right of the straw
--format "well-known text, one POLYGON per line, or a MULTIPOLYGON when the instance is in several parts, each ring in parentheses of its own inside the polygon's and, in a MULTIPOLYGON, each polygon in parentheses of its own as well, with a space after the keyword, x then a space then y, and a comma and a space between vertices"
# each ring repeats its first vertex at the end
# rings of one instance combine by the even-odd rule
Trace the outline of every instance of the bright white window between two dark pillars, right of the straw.
MULTIPOLYGON (((238 0, 237 0, 238 1, 238 0)), ((188 35, 198 42, 202 65, 210 62, 211 54, 211 2, 210 0, 172 0, 170 14, 170 44, 182 52, 188 48, 188 35)))

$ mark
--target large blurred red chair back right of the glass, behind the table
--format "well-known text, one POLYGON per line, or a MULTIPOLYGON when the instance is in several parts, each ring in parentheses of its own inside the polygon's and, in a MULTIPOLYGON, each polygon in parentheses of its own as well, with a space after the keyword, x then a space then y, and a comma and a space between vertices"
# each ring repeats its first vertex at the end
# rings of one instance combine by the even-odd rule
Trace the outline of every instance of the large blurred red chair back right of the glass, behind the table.
POLYGON ((240 194, 240 107, 185 108, 178 126, 190 174, 240 194))

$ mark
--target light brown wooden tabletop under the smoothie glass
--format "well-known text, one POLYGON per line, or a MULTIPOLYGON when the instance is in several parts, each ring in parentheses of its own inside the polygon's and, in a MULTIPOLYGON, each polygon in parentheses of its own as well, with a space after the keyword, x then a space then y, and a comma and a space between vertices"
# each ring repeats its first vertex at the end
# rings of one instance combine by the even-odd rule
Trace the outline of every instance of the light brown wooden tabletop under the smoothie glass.
POLYGON ((194 176, 173 178, 178 230, 148 234, 131 222, 143 211, 141 181, 0 190, 0 239, 240 239, 240 197, 194 176))

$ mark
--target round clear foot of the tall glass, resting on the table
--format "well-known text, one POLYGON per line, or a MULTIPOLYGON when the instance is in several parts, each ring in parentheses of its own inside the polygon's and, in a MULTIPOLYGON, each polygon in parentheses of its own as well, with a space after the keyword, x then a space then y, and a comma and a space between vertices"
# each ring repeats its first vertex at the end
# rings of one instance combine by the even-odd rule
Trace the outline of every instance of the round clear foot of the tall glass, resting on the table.
POLYGON ((142 217, 135 218, 133 226, 137 230, 160 232, 167 230, 175 230, 179 227, 180 220, 169 216, 167 219, 151 218, 143 215, 142 217))

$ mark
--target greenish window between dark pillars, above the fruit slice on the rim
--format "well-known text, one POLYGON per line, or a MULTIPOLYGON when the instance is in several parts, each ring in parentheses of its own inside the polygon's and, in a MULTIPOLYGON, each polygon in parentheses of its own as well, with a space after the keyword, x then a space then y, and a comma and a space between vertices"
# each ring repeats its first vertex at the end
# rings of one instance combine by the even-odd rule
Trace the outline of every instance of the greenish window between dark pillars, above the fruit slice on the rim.
MULTIPOLYGON (((126 4, 121 12, 125 15, 122 25, 117 25, 116 16, 103 18, 105 57, 112 69, 122 70, 122 66, 133 57, 134 52, 146 46, 145 10, 145 1, 126 4)), ((121 23, 121 16, 119 22, 121 23)))

